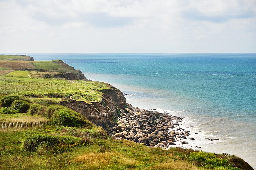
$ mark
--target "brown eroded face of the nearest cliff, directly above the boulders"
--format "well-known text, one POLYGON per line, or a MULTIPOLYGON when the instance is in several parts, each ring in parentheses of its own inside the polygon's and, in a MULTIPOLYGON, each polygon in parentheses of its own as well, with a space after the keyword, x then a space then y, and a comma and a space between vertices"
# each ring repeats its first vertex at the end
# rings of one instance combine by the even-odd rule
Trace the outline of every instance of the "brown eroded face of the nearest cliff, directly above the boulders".
POLYGON ((113 121, 113 117, 117 116, 117 110, 119 110, 119 108, 106 94, 103 94, 103 98, 100 102, 63 100, 60 104, 80 113, 92 123, 101 126, 108 132, 116 125, 113 121))

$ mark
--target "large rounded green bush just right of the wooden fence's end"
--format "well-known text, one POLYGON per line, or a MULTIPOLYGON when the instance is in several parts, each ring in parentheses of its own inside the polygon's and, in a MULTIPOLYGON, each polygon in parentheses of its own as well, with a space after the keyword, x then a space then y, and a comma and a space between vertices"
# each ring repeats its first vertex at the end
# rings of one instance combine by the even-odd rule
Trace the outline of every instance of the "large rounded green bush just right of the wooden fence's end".
POLYGON ((92 123, 89 122, 85 117, 68 108, 54 111, 54 116, 52 116, 52 119, 53 123, 60 126, 71 126, 78 128, 92 126, 92 123))

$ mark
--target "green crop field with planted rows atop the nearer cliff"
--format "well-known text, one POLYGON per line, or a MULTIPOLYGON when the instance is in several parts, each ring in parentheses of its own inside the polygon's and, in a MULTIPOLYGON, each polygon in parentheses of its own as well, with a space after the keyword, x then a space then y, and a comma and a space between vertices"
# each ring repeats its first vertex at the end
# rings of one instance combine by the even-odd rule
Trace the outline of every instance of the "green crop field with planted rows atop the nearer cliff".
MULTIPOLYGON (((25 71, 24 76, 27 74, 25 71)), ((109 89, 100 82, 90 81, 67 81, 51 79, 34 79, 0 76, 0 93, 7 94, 43 94, 60 93, 65 96, 74 95, 74 99, 100 101, 102 93, 97 91, 109 89)))

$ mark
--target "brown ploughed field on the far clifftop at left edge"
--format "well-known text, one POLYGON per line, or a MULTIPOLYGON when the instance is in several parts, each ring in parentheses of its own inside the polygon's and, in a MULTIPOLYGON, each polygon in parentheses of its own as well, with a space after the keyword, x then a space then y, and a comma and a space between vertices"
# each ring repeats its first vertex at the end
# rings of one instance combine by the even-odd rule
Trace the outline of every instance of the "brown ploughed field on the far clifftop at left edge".
POLYGON ((0 60, 0 67, 12 69, 12 70, 18 70, 18 69, 37 69, 31 61, 6 61, 6 60, 0 60))

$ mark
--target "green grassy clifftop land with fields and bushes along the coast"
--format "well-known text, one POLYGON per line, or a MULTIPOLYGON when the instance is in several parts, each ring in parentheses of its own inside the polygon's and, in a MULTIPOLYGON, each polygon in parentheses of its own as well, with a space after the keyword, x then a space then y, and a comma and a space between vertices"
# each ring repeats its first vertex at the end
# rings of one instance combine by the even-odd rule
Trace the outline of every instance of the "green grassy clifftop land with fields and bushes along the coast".
POLYGON ((0 60, 0 67, 1 170, 252 170, 241 158, 226 153, 206 153, 179 147, 165 150, 113 139, 102 127, 61 104, 82 101, 86 103, 84 107, 93 107, 97 113, 101 112, 100 104, 106 109, 104 112, 113 112, 112 116, 101 119, 115 121, 115 113, 122 110, 115 105, 117 101, 111 101, 118 99, 113 97, 118 94, 117 89, 102 82, 40 76, 76 73, 73 67, 61 60, 0 60), (4 126, 2 122, 36 121, 51 123, 33 127, 1 127, 4 126))

